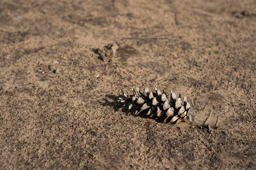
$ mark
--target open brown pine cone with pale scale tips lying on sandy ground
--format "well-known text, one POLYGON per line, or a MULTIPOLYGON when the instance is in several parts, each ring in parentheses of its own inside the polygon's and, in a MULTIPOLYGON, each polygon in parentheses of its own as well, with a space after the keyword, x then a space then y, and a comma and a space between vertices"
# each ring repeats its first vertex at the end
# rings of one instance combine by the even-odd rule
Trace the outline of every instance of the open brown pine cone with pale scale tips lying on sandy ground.
POLYGON ((124 110, 130 111, 133 115, 148 116, 156 119, 163 118, 164 123, 180 123, 182 120, 190 117, 191 106, 184 96, 183 103, 181 94, 176 98, 176 94, 171 91, 170 98, 163 90, 161 93, 157 88, 154 92, 149 92, 145 88, 143 92, 139 88, 133 89, 133 95, 127 96, 122 93, 117 102, 122 104, 124 110))

